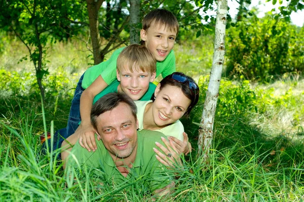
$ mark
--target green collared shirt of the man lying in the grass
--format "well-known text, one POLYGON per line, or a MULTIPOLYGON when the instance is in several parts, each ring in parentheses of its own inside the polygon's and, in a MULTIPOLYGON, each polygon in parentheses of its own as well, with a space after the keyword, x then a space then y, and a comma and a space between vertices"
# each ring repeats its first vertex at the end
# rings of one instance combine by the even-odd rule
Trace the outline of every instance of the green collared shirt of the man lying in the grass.
MULTIPOLYGON (((124 177, 117 169, 108 150, 102 141, 95 138, 97 150, 89 152, 77 142, 71 150, 79 165, 85 165, 94 169, 94 174, 106 182, 114 182, 117 185, 132 184, 137 180, 146 180, 149 188, 153 191, 165 187, 170 183, 170 171, 165 168, 155 157, 153 147, 158 141, 165 146, 161 140, 162 133, 150 130, 137 131, 137 154, 133 167, 127 177, 124 177), (169 175, 169 176, 168 176, 169 175)), ((76 165, 74 158, 70 157, 68 164, 76 165)))

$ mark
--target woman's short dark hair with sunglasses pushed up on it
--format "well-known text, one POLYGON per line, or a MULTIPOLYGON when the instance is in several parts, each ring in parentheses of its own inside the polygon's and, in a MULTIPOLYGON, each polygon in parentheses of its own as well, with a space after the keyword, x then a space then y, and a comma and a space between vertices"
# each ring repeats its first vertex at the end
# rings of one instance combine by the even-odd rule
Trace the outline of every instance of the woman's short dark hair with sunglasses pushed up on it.
MULTIPOLYGON (((191 100, 191 103, 184 114, 185 117, 188 117, 191 110, 198 103, 199 95, 200 95, 200 88, 199 88, 198 84, 193 80, 193 78, 186 76, 185 74, 183 74, 181 72, 174 72, 174 73, 166 76, 159 84, 161 85, 160 90, 162 90, 166 85, 176 86, 176 87, 180 88, 181 91, 183 92, 183 94, 191 100), (172 76, 174 74, 181 76, 181 77, 185 77, 186 78, 185 81, 184 82, 178 81, 178 80, 172 78, 172 76), (195 86, 193 86, 193 84, 195 86)), ((151 100, 153 100, 153 102, 155 100, 154 93, 151 97, 151 100)))

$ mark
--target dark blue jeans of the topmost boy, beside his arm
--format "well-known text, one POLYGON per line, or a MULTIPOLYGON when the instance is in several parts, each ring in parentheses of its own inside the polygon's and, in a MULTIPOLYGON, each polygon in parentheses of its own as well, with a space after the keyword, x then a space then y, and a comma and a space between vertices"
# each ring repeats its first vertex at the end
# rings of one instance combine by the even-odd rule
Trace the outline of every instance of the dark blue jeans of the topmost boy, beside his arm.
POLYGON ((79 122, 81 122, 81 117, 80 117, 80 96, 83 93, 83 91, 85 90, 81 86, 82 85, 82 80, 84 78, 84 75, 85 75, 85 73, 80 77, 80 79, 78 81, 78 84, 76 86, 76 89, 75 89, 74 97, 72 99, 70 113, 68 115, 68 120, 67 120, 66 132, 63 135, 63 137, 65 139, 68 138, 69 136, 71 136, 75 132, 75 130, 79 126, 79 122))

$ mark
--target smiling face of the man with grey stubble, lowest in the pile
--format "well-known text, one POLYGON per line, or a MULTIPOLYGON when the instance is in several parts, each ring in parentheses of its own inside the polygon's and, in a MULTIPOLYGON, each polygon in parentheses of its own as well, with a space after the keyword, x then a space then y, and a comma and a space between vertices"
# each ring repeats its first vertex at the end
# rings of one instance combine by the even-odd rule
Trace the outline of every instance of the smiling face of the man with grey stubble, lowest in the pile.
POLYGON ((113 160, 128 158, 133 153, 137 146, 137 128, 138 121, 125 103, 97 117, 97 131, 113 160))

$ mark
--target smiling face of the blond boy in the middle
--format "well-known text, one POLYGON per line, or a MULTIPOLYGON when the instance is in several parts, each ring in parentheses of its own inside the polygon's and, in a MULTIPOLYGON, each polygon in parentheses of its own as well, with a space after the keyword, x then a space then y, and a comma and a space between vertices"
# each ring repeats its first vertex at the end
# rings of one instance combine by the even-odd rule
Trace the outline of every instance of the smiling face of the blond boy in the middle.
POLYGON ((117 70, 117 80, 120 81, 122 91, 133 100, 138 100, 144 95, 148 90, 149 82, 153 82, 155 76, 156 73, 151 74, 141 70, 133 70, 133 72, 128 68, 117 70))

